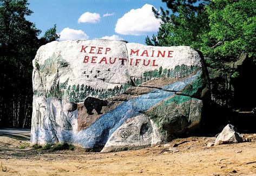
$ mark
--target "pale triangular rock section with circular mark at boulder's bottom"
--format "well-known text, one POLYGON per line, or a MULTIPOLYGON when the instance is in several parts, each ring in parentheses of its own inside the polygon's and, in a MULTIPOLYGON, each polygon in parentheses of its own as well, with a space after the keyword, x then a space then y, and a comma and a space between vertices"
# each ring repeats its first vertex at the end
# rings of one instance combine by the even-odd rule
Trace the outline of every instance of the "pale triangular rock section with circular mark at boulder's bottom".
POLYGON ((109 137, 101 152, 116 152, 149 147, 162 142, 153 121, 142 114, 129 118, 109 137))

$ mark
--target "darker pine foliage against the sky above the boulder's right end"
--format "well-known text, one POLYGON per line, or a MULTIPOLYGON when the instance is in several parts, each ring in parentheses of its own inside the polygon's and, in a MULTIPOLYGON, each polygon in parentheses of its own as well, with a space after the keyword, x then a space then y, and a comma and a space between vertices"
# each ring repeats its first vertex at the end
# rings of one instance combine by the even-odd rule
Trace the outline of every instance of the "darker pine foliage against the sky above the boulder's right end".
POLYGON ((157 40, 155 36, 150 41, 146 38, 147 45, 154 46, 179 46, 186 45, 198 48, 202 42, 200 34, 208 29, 207 13, 204 11, 204 3, 199 6, 194 6, 193 2, 186 0, 163 0, 171 7, 172 13, 168 10, 160 9, 160 12, 155 11, 155 17, 161 19, 161 27, 157 32, 157 40), (176 13, 174 13, 176 12, 176 13))

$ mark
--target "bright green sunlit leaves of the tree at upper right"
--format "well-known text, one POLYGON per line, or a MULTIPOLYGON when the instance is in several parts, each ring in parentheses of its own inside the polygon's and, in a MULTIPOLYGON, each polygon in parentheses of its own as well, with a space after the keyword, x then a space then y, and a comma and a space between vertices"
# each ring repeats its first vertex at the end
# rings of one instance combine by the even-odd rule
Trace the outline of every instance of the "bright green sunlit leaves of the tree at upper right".
POLYGON ((255 57, 255 1, 214 1, 207 6, 210 30, 201 50, 221 60, 237 60, 241 53, 255 57))

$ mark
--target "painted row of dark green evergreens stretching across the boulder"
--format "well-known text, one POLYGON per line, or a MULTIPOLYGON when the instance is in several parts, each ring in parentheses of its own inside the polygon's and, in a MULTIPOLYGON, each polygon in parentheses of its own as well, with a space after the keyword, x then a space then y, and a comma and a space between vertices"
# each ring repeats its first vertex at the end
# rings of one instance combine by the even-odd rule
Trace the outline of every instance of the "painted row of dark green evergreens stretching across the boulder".
POLYGON ((81 102, 88 96, 94 96, 101 99, 106 99, 111 96, 116 96, 124 93, 131 86, 140 86, 142 82, 148 81, 153 78, 184 78, 189 74, 194 73, 199 68, 197 66, 176 66, 175 69, 155 69, 154 71, 149 71, 143 73, 143 78, 131 78, 131 80, 126 85, 115 86, 113 89, 94 89, 90 86, 84 86, 83 84, 78 85, 69 85, 68 80, 60 83, 60 87, 51 86, 51 89, 48 93, 48 97, 57 97, 57 98, 68 98, 69 101, 81 102))

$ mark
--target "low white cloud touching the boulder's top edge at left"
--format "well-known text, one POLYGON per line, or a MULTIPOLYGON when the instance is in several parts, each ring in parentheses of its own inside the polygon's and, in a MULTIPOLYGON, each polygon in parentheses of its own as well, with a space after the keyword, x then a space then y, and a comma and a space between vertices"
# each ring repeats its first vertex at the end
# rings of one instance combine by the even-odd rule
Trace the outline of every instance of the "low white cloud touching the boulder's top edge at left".
POLYGON ((78 40, 78 39, 88 39, 86 33, 84 33, 82 30, 74 30, 70 29, 69 27, 66 27, 60 32, 60 41, 63 40, 78 40))

